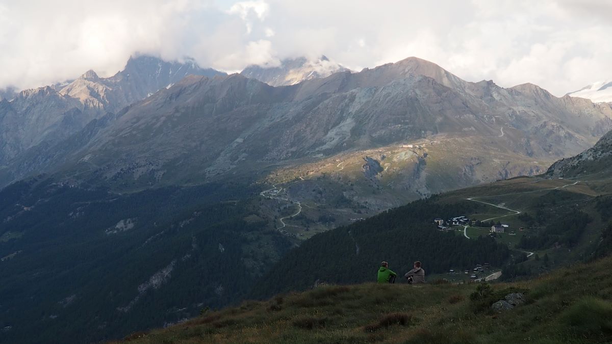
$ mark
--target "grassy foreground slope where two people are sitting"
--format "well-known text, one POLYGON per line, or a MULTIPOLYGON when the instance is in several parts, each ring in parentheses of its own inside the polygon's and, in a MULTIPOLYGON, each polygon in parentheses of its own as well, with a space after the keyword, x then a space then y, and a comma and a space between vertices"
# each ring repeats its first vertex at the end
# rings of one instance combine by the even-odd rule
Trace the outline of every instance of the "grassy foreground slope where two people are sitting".
POLYGON ((323 286, 206 312, 132 343, 603 343, 612 340, 612 258, 539 279, 496 283, 323 286), (480 286, 480 287, 479 287, 480 286), (477 288, 480 294, 475 293, 477 288), (485 290, 484 293, 482 291, 485 290), (526 302, 493 312, 512 292, 526 302), (474 295, 472 295, 474 294, 474 295))

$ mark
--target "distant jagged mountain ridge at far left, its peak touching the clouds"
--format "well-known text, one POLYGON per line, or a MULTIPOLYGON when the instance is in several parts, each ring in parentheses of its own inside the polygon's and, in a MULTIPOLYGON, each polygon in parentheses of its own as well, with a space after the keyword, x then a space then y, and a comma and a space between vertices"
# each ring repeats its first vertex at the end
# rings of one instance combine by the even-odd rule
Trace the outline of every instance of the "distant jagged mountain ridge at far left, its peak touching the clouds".
MULTIPOLYGON (((169 82, 181 80, 188 73, 223 74, 200 69, 193 62, 185 70, 181 70, 182 65, 151 56, 137 56, 130 58, 125 70, 110 78, 100 78, 89 70, 68 84, 26 89, 18 92, 10 102, 1 100, 0 166, 24 165, 27 162, 21 155, 31 155, 26 153, 29 149, 40 151, 41 147, 37 147, 40 144, 47 147, 61 144, 92 120, 118 112, 159 88, 165 88, 169 82)), ((39 173, 45 170, 42 162, 35 164, 43 169, 30 166, 26 170, 39 173)), ((9 169, 10 181, 26 176, 23 171, 23 168, 9 169)))

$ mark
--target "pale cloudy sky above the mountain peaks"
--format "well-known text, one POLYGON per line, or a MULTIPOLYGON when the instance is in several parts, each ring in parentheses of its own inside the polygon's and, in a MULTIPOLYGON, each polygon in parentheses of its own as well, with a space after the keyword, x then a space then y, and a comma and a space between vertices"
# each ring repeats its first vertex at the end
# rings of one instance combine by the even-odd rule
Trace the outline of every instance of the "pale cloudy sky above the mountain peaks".
POLYGON ((325 54, 354 70, 417 56, 560 96, 612 78, 610 13, 612 0, 0 0, 0 89, 107 77, 136 52, 227 72, 325 54))

